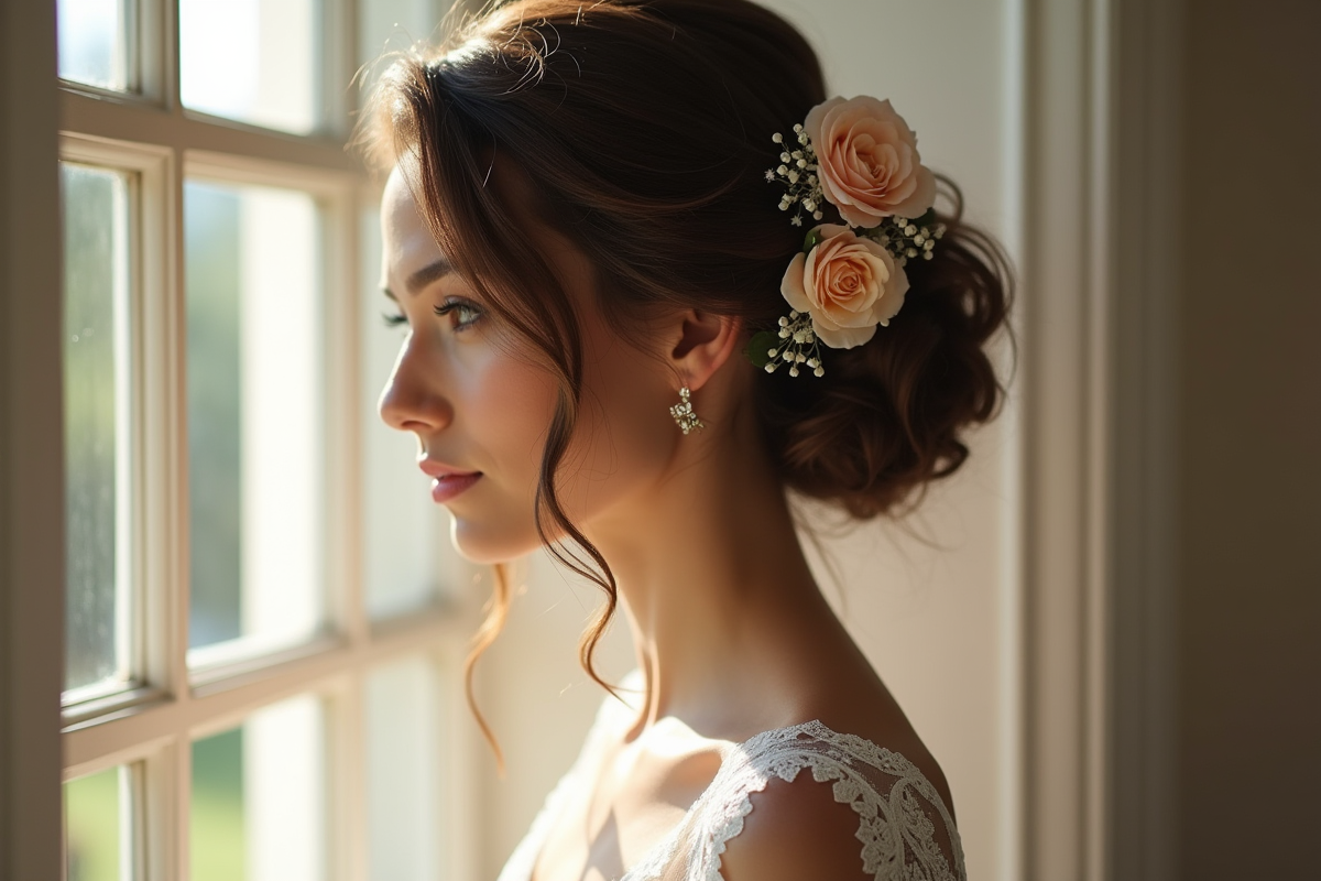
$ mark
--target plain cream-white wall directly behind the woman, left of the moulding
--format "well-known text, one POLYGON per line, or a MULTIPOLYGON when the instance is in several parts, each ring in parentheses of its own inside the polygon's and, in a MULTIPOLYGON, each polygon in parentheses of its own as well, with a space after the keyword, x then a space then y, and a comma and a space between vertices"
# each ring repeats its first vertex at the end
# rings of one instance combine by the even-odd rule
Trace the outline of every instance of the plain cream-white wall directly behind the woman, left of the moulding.
MULTIPOLYGON (((926 162, 963 189, 968 215, 1015 244, 1020 185, 1016 0, 768 0, 820 53, 828 87, 890 98, 926 162)), ((919 515, 827 540, 844 621, 945 769, 975 878, 1016 874, 1018 609, 1013 411, 919 515)), ((832 584, 824 567, 822 580, 832 584)), ((830 588, 827 592, 831 593, 830 588)), ((577 634, 598 593, 535 560, 507 633, 482 664, 482 700, 509 761, 486 785, 494 877, 576 754, 601 691, 579 670, 577 634)), ((622 622, 621 622, 622 623, 622 622)), ((602 668, 631 666, 624 627, 602 668)))

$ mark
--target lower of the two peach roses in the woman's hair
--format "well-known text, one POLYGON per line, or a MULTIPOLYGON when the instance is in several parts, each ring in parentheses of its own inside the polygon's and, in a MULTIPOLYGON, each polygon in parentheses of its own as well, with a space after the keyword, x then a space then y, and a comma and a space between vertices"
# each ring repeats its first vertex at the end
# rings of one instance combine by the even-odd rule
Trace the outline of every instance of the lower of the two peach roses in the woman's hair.
POLYGON ((812 330, 832 349, 860 346, 904 305, 908 275, 884 247, 847 226, 823 223, 820 243, 798 254, 779 292, 812 317, 812 330))

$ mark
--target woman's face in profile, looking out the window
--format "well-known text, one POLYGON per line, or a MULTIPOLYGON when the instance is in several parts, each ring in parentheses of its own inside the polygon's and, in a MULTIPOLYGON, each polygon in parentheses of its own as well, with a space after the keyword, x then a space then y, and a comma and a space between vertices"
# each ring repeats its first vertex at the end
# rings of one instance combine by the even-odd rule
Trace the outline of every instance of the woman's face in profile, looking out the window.
MULTIPOLYGON (((675 383, 662 362, 600 320, 581 252, 544 225, 524 226, 583 329, 583 407, 556 487, 590 535, 594 522, 642 510, 647 489, 664 476, 678 436, 667 412, 675 383)), ((453 515, 460 553, 478 563, 527 553, 540 543, 534 505, 556 380, 544 358, 448 269, 399 169, 386 184, 382 235, 382 287, 407 333, 380 416, 417 436, 419 465, 432 498, 453 515)))

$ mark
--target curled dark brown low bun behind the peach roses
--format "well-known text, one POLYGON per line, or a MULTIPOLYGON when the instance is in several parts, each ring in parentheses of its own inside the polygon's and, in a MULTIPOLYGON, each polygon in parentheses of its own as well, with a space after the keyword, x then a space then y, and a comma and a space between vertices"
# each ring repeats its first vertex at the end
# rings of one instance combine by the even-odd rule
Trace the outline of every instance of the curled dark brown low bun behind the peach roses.
POLYGON ((762 429, 786 486, 873 518, 921 498, 968 456, 966 429, 992 419, 1004 388, 987 343, 1005 326, 1008 262, 954 215, 931 260, 908 264, 902 310, 865 345, 828 350, 822 378, 758 382, 762 429))

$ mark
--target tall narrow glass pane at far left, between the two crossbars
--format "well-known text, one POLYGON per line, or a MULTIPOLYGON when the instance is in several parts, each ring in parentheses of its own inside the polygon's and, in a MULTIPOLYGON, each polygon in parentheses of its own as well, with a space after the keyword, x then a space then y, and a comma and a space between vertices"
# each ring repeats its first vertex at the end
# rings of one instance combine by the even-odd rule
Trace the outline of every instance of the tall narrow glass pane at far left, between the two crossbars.
POLYGON ((65 688, 128 682, 128 177, 63 164, 65 688))

